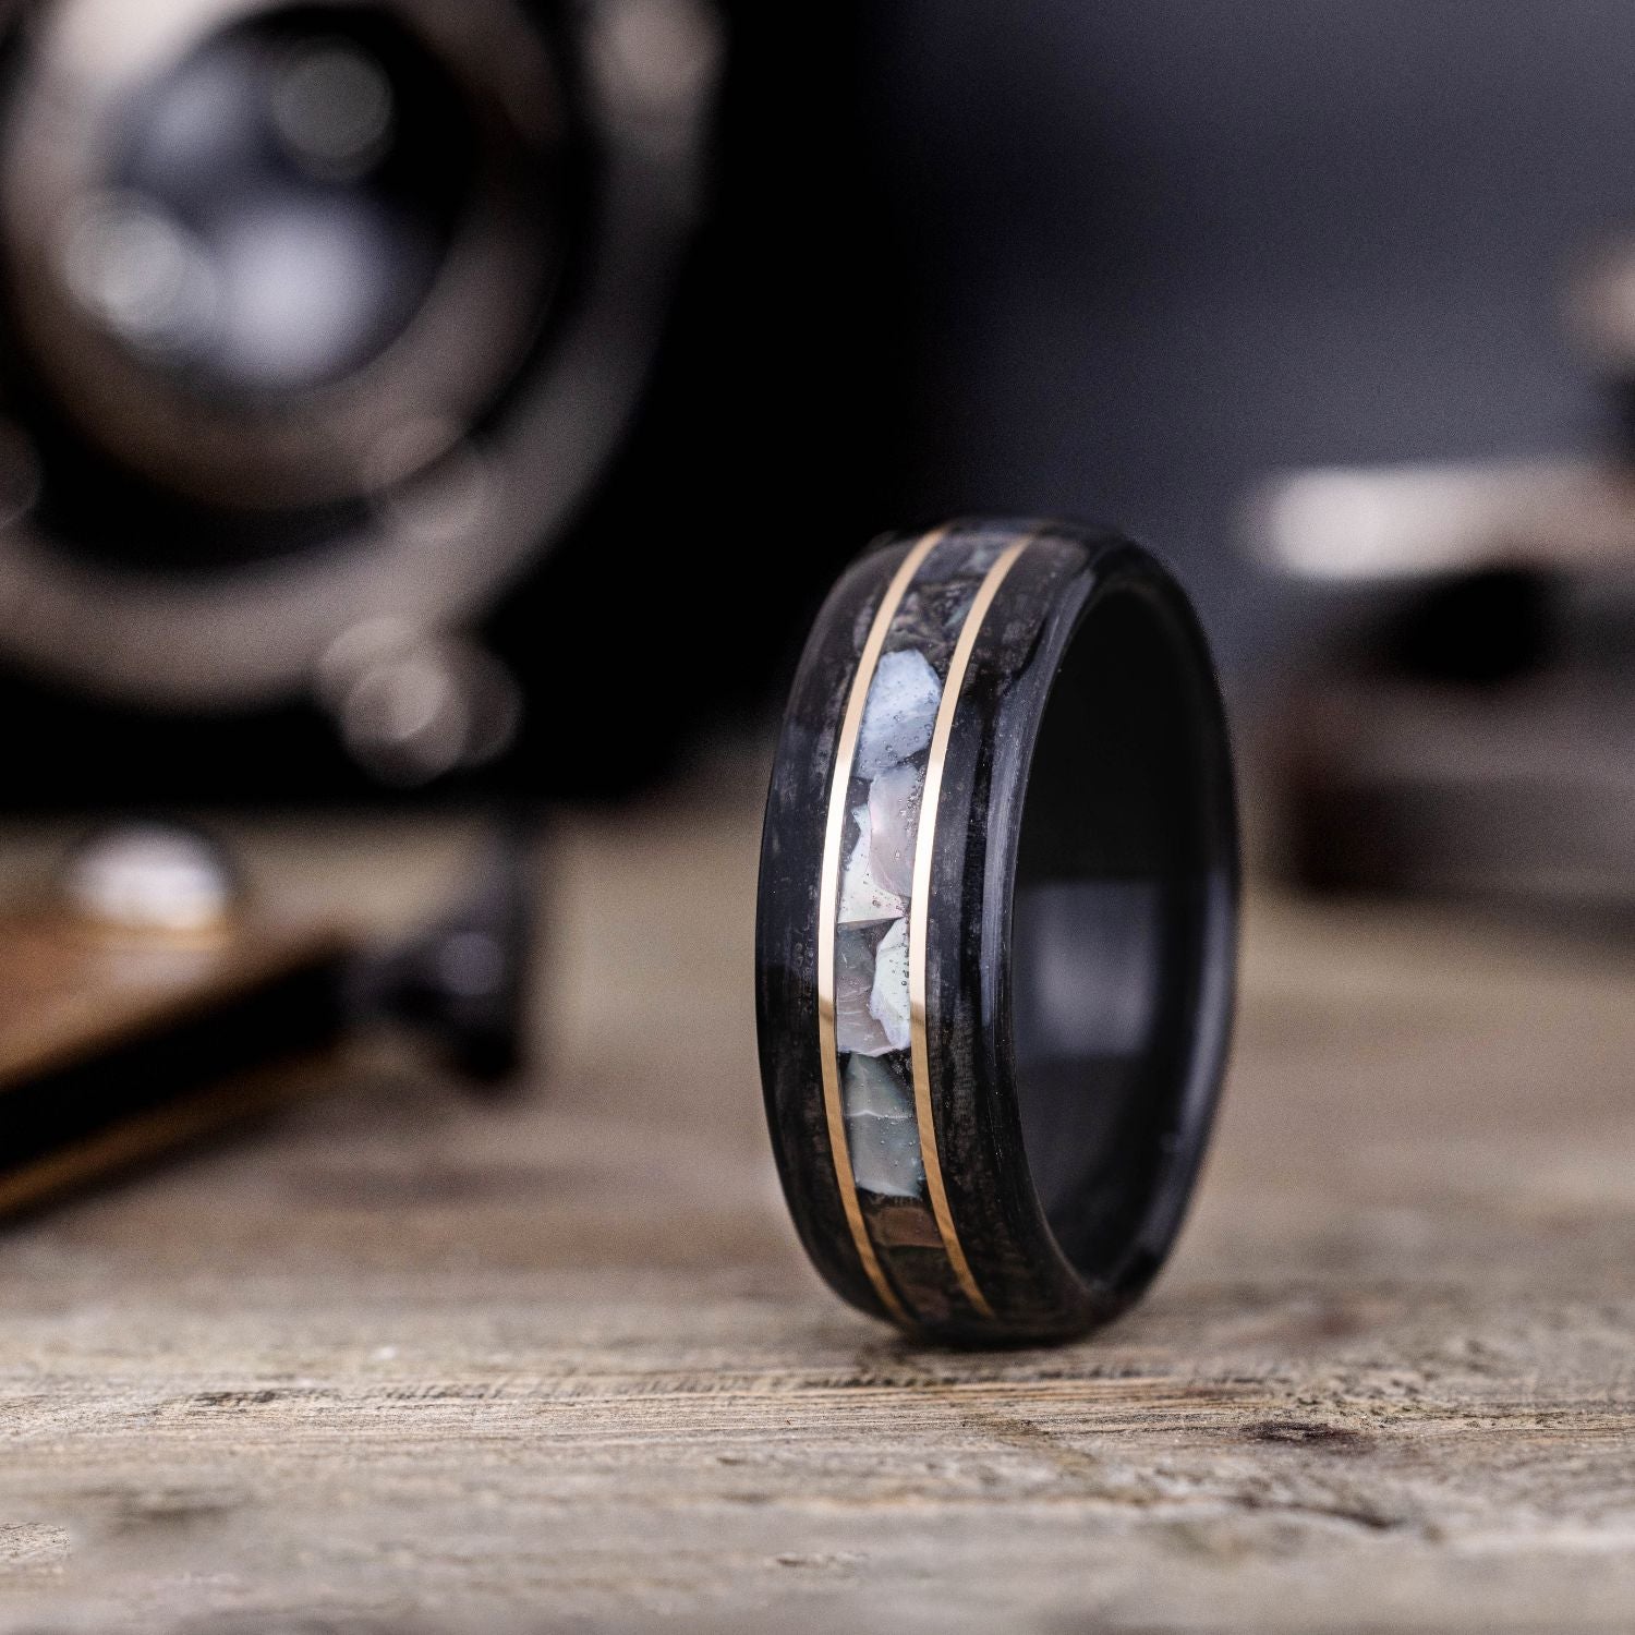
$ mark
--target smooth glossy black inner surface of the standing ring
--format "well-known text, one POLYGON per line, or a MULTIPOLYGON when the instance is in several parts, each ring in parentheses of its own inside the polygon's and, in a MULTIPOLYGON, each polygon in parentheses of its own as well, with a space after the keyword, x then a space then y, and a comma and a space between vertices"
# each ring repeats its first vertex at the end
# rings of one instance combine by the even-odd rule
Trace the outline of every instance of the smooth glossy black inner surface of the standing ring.
POLYGON ((1017 1102, 1045 1216, 1092 1282, 1117 1270, 1164 1184, 1197 1025, 1210 716, 1182 643, 1140 590, 1092 607, 1024 796, 1017 1102))

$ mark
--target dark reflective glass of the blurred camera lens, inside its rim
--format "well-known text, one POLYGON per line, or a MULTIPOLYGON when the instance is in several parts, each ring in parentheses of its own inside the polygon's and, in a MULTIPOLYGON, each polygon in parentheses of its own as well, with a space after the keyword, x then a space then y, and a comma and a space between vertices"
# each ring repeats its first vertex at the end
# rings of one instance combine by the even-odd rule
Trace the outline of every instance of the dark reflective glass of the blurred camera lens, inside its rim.
POLYGON ((64 224, 69 289, 144 363, 227 399, 373 363, 430 296, 479 165, 448 69, 356 13, 222 29, 111 137, 106 191, 64 224))

